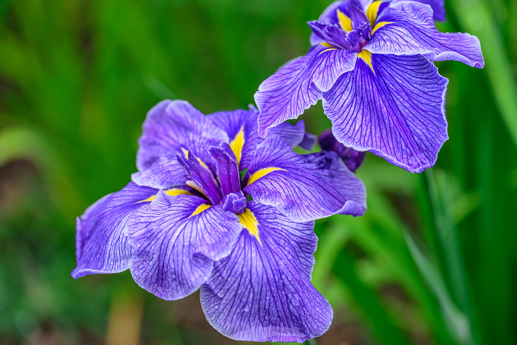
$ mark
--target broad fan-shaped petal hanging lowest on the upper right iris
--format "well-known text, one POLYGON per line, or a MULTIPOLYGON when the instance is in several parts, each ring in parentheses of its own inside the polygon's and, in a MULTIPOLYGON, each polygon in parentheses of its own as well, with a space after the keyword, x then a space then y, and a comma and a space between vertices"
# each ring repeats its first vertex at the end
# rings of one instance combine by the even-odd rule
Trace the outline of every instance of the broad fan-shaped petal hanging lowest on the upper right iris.
POLYGON ((432 167, 448 139, 448 80, 421 55, 372 54, 358 59, 323 94, 332 133, 345 146, 370 151, 410 172, 432 167))

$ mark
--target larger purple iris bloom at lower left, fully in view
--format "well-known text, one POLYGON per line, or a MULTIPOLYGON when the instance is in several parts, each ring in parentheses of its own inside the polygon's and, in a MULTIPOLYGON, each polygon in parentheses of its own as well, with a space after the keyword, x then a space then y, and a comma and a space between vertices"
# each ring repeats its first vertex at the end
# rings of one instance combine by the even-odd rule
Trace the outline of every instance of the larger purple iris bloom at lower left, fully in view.
POLYGON ((201 288, 207 320, 233 339, 324 333, 332 308, 310 282, 314 219, 364 214, 366 191, 336 153, 293 152, 315 143, 303 122, 262 139, 257 118, 256 109, 205 116, 186 101, 158 103, 133 181, 77 219, 72 276, 129 268, 163 299, 201 288))

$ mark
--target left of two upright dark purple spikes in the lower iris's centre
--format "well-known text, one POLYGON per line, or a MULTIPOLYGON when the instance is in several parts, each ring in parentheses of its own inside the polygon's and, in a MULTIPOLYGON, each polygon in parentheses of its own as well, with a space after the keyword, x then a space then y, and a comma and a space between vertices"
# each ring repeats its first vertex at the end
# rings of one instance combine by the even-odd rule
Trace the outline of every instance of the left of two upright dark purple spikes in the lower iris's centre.
MULTIPOLYGON (((194 155, 192 150, 188 151, 188 158, 183 153, 178 153, 176 159, 187 176, 197 187, 201 188, 200 191, 205 194, 210 203, 217 204, 221 201, 222 193, 217 179, 210 169, 194 155)), ((189 185, 189 182, 187 182, 187 185, 189 185)))

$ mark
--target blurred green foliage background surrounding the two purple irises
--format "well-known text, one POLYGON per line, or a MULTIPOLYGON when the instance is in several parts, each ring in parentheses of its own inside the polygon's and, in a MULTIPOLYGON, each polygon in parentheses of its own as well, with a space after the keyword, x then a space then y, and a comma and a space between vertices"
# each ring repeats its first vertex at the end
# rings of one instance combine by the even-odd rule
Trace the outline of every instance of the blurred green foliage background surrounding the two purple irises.
MULTIPOLYGON (((129 181, 155 103, 246 108, 328 3, 0 1, 0 344, 234 343, 197 292, 167 302, 128 272, 72 279, 75 216, 129 181)), ((334 309, 318 344, 517 343, 517 2, 446 9, 440 31, 477 35, 486 66, 436 63, 451 138, 436 167, 369 154, 366 216, 316 223, 313 283, 334 309)), ((301 118, 330 125, 321 103, 301 118)))

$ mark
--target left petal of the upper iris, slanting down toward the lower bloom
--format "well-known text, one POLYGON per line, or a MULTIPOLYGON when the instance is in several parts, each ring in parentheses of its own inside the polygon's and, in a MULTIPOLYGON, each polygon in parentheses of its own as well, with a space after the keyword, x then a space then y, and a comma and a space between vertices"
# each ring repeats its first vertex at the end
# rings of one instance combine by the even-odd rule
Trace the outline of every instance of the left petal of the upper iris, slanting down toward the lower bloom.
POLYGON ((321 99, 322 91, 354 67, 356 55, 345 49, 327 50, 317 46, 307 55, 285 66, 258 86, 255 103, 258 134, 266 137, 271 128, 287 119, 298 117, 321 99))

